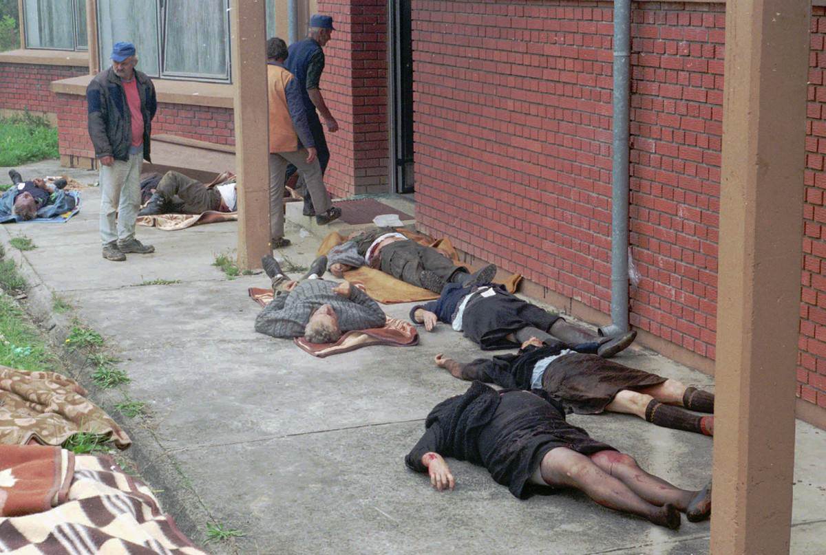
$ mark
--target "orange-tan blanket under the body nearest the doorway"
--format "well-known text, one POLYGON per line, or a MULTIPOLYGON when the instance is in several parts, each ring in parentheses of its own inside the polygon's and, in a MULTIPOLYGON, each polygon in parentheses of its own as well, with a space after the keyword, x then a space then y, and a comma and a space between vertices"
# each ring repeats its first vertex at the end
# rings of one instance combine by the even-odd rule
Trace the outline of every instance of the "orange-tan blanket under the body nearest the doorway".
MULTIPOLYGON (((406 230, 403 227, 398 228, 396 231, 418 244, 439 250, 440 253, 453 260, 453 263, 459 265, 458 253, 456 249, 453 249, 453 244, 450 243, 449 239, 434 240, 428 235, 406 230)), ((346 240, 346 237, 343 237, 335 231, 330 233, 318 248, 318 256, 329 253, 330 249, 335 247, 335 245, 342 244, 346 240)), ((385 305, 392 305, 398 302, 431 301, 439 298, 439 293, 434 293, 422 287, 416 287, 410 283, 402 282, 401 279, 396 279, 396 277, 392 277, 390 274, 368 268, 367 266, 345 272, 344 279, 351 283, 361 284, 364 292, 373 297, 375 301, 385 305)), ((497 281, 497 283, 502 283, 508 292, 513 293, 516 292, 516 288, 519 287, 520 281, 522 281, 522 276, 515 273, 505 281, 497 281)))

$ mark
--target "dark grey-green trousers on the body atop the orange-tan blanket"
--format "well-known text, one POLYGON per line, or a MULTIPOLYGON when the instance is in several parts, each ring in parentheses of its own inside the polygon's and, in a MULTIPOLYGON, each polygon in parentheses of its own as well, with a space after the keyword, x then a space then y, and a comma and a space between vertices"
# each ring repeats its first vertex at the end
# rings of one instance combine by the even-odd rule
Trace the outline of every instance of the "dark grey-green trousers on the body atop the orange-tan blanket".
POLYGON ((468 268, 463 266, 455 266, 453 260, 439 253, 437 249, 425 247, 413 240, 386 244, 379 256, 382 259, 382 272, 416 287, 422 287, 420 274, 423 270, 430 270, 445 282, 450 281, 453 273, 468 271, 468 268))

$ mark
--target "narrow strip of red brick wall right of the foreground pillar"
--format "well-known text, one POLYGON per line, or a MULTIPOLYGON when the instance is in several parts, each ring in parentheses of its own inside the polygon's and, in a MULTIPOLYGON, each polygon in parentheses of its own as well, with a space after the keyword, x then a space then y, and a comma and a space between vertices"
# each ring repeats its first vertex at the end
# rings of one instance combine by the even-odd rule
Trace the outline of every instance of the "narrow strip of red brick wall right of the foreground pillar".
POLYGON ((797 395, 826 407, 826 9, 812 12, 797 395))

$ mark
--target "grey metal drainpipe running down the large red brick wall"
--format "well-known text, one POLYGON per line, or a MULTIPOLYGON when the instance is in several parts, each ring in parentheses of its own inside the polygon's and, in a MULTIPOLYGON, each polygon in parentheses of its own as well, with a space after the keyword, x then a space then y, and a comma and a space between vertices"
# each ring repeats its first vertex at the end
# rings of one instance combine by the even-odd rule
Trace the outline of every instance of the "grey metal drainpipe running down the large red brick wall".
POLYGON ((629 330, 628 197, 631 0, 614 2, 613 167, 611 171, 611 324, 605 335, 629 330))

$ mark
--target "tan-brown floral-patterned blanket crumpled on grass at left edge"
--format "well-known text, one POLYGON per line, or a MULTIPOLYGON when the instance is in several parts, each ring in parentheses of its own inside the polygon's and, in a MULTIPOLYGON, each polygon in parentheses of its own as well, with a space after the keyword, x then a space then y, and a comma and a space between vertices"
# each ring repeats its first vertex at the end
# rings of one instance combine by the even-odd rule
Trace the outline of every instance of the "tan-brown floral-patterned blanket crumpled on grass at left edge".
POLYGON ((131 439, 86 390, 56 372, 0 366, 0 444, 59 445, 78 432, 102 434, 117 448, 131 439))

